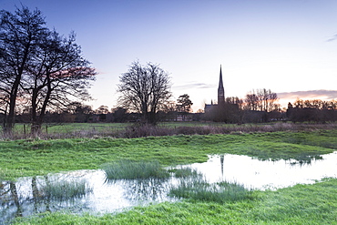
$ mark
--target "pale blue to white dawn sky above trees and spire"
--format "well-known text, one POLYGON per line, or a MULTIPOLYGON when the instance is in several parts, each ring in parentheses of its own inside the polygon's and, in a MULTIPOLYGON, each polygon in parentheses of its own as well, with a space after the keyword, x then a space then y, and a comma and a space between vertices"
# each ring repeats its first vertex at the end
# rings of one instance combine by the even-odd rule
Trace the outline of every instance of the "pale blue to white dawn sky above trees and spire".
POLYGON ((193 111, 217 99, 266 88, 281 106, 337 99, 335 0, 0 0, 38 8, 61 35, 77 34, 97 69, 94 109, 117 106, 117 84, 134 61, 171 77, 172 100, 188 94, 193 111))

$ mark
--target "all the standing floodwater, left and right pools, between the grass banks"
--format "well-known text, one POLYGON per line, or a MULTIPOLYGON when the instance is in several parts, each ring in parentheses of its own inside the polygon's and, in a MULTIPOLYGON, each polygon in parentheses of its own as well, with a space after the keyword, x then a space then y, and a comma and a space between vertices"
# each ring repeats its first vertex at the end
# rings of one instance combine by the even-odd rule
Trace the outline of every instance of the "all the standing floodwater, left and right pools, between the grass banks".
MULTIPOLYGON (((259 160, 247 156, 210 156, 205 163, 188 165, 205 175, 209 182, 227 180, 248 189, 279 189, 315 179, 337 178, 337 151, 321 159, 259 160)), ((168 191, 175 178, 106 181, 103 170, 78 170, 46 177, 22 178, 0 183, 0 224, 15 217, 37 212, 71 210, 82 212, 117 212, 150 202, 174 201, 168 191), (87 194, 72 199, 53 199, 44 194, 50 180, 85 180, 87 194)))

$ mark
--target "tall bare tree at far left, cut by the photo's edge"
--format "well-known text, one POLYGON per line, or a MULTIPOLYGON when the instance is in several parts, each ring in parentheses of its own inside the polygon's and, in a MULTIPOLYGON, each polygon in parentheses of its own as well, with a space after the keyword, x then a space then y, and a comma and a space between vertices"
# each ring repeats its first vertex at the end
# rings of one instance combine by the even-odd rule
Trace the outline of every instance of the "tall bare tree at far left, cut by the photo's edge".
POLYGON ((5 114, 3 128, 10 134, 15 124, 15 105, 26 64, 46 39, 46 24, 39 10, 27 7, 15 14, 0 11, 0 97, 5 114))

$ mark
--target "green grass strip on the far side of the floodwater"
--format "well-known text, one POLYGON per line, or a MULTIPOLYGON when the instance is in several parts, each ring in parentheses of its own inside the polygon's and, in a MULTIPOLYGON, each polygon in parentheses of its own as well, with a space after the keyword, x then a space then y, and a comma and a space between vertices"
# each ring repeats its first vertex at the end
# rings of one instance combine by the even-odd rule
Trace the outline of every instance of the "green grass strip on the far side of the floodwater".
POLYGON ((306 159, 337 148, 337 130, 178 135, 148 138, 21 139, 0 141, 0 179, 98 169, 120 159, 158 160, 172 166, 204 162, 211 154, 260 159, 306 159))

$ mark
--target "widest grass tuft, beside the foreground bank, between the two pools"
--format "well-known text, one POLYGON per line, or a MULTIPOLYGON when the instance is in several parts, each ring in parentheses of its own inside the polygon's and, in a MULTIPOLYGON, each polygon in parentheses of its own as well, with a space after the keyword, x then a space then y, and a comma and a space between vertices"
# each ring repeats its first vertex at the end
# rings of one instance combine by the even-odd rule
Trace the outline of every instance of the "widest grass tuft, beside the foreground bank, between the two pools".
POLYGON ((169 195, 184 199, 222 203, 250 199, 251 191, 245 189, 243 185, 227 181, 209 184, 202 174, 194 171, 192 176, 179 179, 179 184, 171 187, 169 195))

